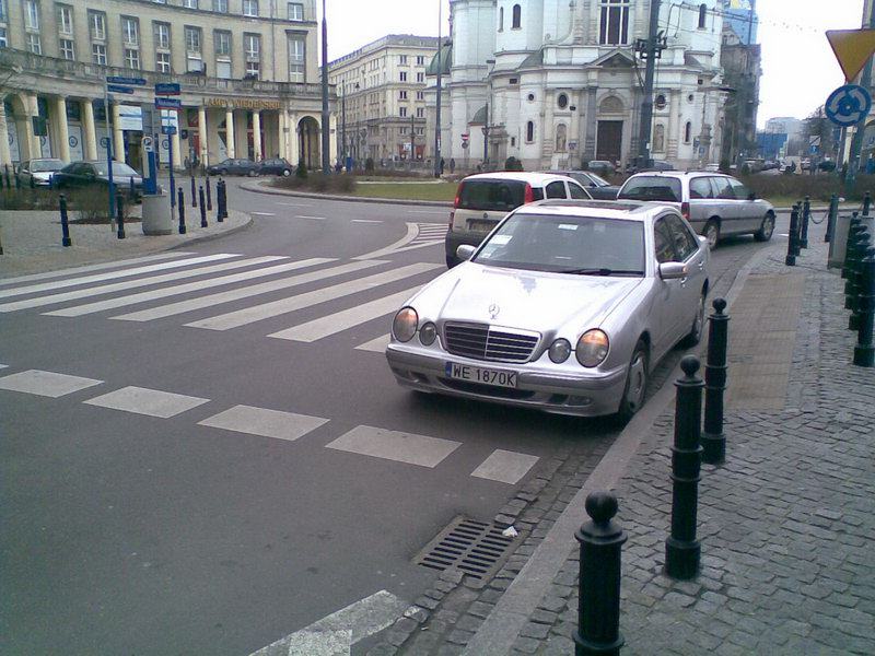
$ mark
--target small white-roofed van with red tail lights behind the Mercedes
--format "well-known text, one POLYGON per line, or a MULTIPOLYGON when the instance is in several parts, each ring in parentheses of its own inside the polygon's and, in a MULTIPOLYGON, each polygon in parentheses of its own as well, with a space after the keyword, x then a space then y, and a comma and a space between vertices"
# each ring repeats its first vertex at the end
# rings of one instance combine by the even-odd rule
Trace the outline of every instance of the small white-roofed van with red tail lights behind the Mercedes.
POLYGON ((477 246, 508 212, 545 198, 592 198, 564 175, 503 171, 469 175, 458 184, 444 248, 446 266, 459 263, 462 244, 477 246))

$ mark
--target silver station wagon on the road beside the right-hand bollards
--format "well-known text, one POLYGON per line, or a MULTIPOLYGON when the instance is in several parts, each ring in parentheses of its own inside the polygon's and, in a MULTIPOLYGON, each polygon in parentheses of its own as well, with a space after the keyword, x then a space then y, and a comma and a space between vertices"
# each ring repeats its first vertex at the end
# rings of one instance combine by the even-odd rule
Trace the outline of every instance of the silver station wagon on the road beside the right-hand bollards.
POLYGON ((617 198, 673 204, 708 237, 711 248, 726 235, 750 233, 758 242, 768 242, 774 232, 772 204, 721 173, 639 173, 626 180, 617 198))

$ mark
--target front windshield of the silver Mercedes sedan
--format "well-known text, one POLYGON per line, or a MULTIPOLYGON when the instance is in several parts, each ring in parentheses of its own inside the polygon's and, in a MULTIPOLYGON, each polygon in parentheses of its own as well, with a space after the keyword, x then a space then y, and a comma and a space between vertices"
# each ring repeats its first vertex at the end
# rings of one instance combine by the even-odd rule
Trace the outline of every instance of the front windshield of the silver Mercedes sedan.
POLYGON ((602 216, 514 214, 472 261, 578 276, 643 276, 644 226, 602 216))

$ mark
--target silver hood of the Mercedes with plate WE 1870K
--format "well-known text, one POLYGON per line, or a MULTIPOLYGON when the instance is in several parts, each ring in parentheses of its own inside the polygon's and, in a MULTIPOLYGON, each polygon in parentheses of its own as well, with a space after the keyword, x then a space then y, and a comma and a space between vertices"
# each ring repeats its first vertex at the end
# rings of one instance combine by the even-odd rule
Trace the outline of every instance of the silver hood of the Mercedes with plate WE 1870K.
POLYGON ((553 332, 597 327, 642 278, 570 276, 464 262, 412 300, 421 318, 553 332))

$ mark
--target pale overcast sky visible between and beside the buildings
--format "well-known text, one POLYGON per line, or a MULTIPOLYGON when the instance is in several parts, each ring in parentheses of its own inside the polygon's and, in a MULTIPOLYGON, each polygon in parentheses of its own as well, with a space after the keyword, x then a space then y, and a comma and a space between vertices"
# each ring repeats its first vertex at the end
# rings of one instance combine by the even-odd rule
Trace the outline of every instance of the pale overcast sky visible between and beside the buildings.
MULTIPOLYGON (((328 59, 386 34, 436 36, 439 1, 446 34, 448 0, 327 0, 328 59)), ((844 82, 824 32, 860 27, 863 0, 759 0, 757 13, 762 44, 758 122, 805 118, 844 82)))

